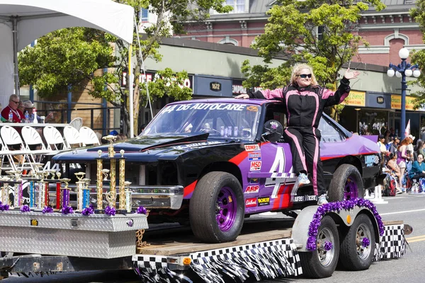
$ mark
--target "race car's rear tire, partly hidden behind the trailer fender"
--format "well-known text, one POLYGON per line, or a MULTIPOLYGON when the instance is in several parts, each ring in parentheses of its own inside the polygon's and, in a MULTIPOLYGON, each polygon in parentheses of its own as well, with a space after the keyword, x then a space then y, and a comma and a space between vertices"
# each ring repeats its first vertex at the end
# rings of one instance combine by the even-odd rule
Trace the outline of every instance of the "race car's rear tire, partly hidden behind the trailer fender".
POLYGON ((363 178, 355 166, 343 164, 336 169, 329 184, 328 196, 331 202, 363 198, 363 178))

